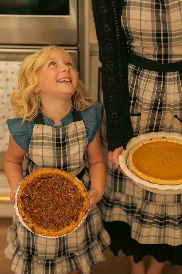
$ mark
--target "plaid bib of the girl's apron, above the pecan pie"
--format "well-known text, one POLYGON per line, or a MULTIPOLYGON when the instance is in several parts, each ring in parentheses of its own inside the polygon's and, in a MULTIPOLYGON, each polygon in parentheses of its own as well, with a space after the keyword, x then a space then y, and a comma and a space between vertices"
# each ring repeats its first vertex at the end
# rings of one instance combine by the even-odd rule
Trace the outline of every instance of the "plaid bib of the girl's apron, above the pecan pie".
POLYGON ((83 156, 87 145, 88 137, 83 121, 62 128, 34 125, 25 155, 27 170, 58 168, 76 176, 85 166, 83 156))

